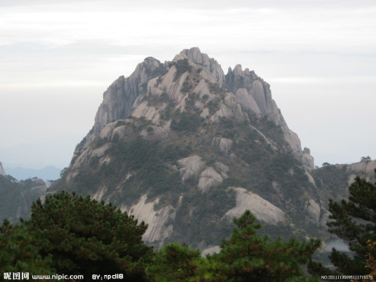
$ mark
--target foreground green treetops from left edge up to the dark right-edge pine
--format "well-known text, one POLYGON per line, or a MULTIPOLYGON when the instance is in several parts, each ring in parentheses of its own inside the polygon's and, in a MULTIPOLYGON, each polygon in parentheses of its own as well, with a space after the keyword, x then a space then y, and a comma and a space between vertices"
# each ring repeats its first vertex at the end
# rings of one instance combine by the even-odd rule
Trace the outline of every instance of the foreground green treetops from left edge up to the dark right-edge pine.
POLYGON ((32 274, 123 274, 126 281, 295 281, 309 280, 300 268, 320 242, 269 242, 246 211, 223 240, 220 253, 169 243, 153 253, 141 236, 147 225, 105 204, 60 192, 32 205, 32 217, 0 227, 0 264, 6 272, 32 274))

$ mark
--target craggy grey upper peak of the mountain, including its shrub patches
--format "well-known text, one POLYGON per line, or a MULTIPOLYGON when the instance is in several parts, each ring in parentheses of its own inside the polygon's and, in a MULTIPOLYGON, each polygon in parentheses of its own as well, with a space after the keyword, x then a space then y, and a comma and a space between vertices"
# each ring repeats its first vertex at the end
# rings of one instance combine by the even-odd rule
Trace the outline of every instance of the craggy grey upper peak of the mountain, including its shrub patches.
MULTIPOLYGON (((219 122, 226 118, 250 123, 251 116, 264 116, 281 127, 287 147, 283 145, 280 149, 293 154, 307 168, 314 168, 313 158, 302 151, 299 137, 288 128, 271 98, 269 84, 248 68, 243 70, 241 65, 236 65, 234 70, 229 68, 224 75, 220 64, 201 53, 198 47, 184 49, 175 55, 172 62, 164 64, 147 57, 130 76, 116 79, 103 94, 93 131, 85 142, 93 142, 112 121, 130 116, 144 117, 163 127, 163 130, 170 130, 173 119, 166 119, 169 116, 166 113, 168 101, 179 112, 187 112, 187 103, 193 102, 189 109, 194 107, 200 111, 200 118, 207 122, 219 122), (190 101, 192 95, 196 95, 196 98, 190 101), (154 102, 150 102, 150 99, 154 102)), ((264 139, 270 144, 275 142, 264 139)))

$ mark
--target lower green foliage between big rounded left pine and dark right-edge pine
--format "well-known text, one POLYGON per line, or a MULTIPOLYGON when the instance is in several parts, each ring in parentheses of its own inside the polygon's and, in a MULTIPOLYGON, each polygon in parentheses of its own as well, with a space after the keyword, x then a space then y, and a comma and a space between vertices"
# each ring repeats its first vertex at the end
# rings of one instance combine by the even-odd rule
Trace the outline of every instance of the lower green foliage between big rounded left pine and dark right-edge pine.
POLYGON ((257 235, 261 224, 246 211, 234 219, 237 228, 224 239, 220 253, 202 257, 199 250, 170 243, 156 253, 147 268, 150 281, 317 281, 306 276, 302 265, 309 262, 320 246, 310 241, 269 242, 257 235))

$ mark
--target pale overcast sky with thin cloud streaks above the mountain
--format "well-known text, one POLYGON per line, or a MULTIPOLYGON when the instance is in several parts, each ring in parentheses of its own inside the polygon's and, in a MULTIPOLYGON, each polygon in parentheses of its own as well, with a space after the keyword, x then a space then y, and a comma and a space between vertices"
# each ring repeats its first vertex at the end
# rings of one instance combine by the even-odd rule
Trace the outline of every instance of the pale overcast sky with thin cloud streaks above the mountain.
POLYGON ((102 93, 198 46, 271 94, 316 166, 376 158, 375 1, 0 1, 0 161, 69 165, 102 93))

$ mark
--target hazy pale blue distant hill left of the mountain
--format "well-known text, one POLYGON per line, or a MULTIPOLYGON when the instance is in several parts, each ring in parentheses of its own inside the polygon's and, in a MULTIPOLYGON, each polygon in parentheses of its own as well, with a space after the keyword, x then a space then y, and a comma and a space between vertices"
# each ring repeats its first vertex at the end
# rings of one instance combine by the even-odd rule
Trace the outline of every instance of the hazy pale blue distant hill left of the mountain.
POLYGON ((12 175, 17 180, 26 180, 27 178, 38 177, 46 180, 57 180, 60 177, 61 168, 55 166, 46 166, 45 168, 6 168, 6 174, 12 175))

